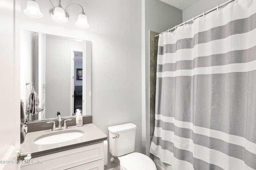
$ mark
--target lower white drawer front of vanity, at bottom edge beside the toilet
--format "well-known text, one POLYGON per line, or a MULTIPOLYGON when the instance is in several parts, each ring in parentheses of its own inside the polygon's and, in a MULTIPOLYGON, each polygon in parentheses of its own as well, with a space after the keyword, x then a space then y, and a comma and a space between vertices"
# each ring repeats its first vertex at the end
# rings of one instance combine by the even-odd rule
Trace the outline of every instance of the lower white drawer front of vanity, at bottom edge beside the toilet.
POLYGON ((69 168, 68 170, 104 170, 104 160, 97 160, 74 168, 69 168))

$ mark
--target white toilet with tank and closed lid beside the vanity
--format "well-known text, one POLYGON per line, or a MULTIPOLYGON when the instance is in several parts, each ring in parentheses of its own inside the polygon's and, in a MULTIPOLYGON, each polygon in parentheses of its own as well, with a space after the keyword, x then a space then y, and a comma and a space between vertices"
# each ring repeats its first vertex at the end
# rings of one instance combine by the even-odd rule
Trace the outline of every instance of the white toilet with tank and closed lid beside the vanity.
POLYGON ((120 160, 120 170, 156 170, 148 156, 133 152, 136 128, 132 123, 108 127, 109 152, 120 160))

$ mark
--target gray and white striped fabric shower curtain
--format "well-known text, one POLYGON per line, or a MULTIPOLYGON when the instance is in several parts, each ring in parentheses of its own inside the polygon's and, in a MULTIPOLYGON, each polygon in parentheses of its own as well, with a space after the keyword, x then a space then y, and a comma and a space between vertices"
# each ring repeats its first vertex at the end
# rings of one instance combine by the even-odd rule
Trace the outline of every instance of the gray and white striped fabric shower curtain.
POLYGON ((159 36, 150 152, 173 170, 256 169, 256 0, 159 36))

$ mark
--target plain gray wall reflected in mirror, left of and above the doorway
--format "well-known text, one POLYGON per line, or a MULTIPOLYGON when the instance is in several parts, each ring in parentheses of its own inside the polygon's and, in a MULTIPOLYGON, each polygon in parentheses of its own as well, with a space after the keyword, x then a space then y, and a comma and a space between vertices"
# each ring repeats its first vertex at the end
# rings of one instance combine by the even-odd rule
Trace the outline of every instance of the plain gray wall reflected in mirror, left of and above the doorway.
POLYGON ((46 119, 70 115, 71 49, 81 49, 74 39, 46 35, 46 119))

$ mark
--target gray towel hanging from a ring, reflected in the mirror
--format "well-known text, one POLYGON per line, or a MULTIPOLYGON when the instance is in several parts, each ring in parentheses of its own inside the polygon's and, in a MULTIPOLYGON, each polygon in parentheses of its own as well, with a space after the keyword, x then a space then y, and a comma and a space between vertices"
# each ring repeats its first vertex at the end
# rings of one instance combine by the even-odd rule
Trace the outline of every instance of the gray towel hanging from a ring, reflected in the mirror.
POLYGON ((32 113, 36 115, 39 113, 39 99, 36 92, 32 92, 28 97, 28 104, 26 108, 26 114, 32 113))

